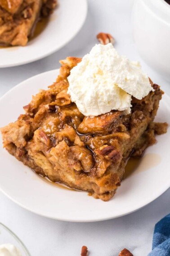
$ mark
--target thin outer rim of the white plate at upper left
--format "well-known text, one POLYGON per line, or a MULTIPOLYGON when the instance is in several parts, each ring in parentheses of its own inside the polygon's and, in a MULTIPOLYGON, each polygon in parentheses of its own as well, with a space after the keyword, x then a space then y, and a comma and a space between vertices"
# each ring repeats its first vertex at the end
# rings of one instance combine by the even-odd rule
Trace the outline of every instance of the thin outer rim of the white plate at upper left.
MULTIPOLYGON (((27 61, 24 61, 24 60, 23 60, 23 61, 20 61, 19 63, 13 63, 13 64, 7 64, 7 65, 1 65, 1 64, 0 64, 0 69, 9 68, 9 67, 16 67, 16 66, 21 66, 21 65, 25 65, 25 64, 29 64, 29 63, 32 63, 32 62, 41 60, 41 59, 43 59, 43 58, 45 58, 45 57, 47 57, 47 56, 52 55, 54 52, 59 51, 59 50, 62 49, 63 47, 65 47, 65 46, 66 46, 69 42, 71 42, 72 39, 80 32, 80 30, 81 30, 83 24, 85 23, 85 19, 86 19, 86 17, 87 17, 88 2, 87 2, 87 0, 83 0, 83 1, 84 1, 84 4, 85 4, 85 12, 84 12, 84 17, 83 17, 83 19, 82 19, 81 25, 80 25, 79 29, 77 29, 77 31, 75 31, 74 33, 72 33, 72 36, 71 36, 70 38, 68 38, 68 39, 66 40, 66 42, 63 43, 63 45, 61 45, 61 46, 59 46, 59 47, 57 47, 57 48, 55 48, 55 49, 53 49, 53 50, 51 50, 51 51, 49 50, 49 51, 46 52, 45 54, 42 54, 41 56, 38 56, 38 57, 35 57, 35 58, 32 58, 31 60, 27 60, 27 61)), ((24 47, 27 47, 27 45, 24 46, 24 47)), ((19 54, 19 53, 18 53, 18 54, 19 54)))

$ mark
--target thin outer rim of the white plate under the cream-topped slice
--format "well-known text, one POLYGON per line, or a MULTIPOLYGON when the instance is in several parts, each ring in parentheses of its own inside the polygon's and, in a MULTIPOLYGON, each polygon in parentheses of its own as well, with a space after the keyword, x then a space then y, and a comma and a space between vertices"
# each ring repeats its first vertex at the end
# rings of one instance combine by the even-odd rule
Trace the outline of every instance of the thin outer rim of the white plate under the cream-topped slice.
MULTIPOLYGON (((35 79, 37 78, 38 76, 41 76, 41 75, 44 75, 44 74, 47 74, 47 73, 56 73, 56 76, 57 76, 57 72, 59 71, 59 69, 54 69, 54 70, 49 70, 49 71, 46 71, 46 72, 42 72, 40 74, 36 74, 26 80, 23 80, 21 83, 17 84, 16 86, 14 86, 13 88, 11 88, 8 92, 6 92, 2 97, 0 97, 0 102, 1 100, 3 100, 8 94, 10 94, 11 92, 13 92, 13 90, 15 90, 16 88, 22 86, 23 83, 25 82, 29 82, 29 80, 31 81, 32 79, 35 79)), ((47 85, 48 86, 48 85, 47 85)), ((32 96, 32 95, 31 95, 32 96)), ((167 100, 170 101, 170 96, 168 96, 166 93, 164 93, 164 98, 166 98, 167 100)), ((67 221, 67 222, 80 222, 80 223, 85 223, 85 222, 98 222, 98 221, 104 221, 104 220, 108 220, 108 219, 116 219, 116 218, 119 218, 119 217, 122 217, 122 216, 125 216, 125 215, 128 215, 128 214, 131 214, 139 209, 142 209, 143 207, 147 206, 148 204, 150 204, 151 202, 153 202, 154 200, 156 200, 157 198, 159 198, 161 195, 163 195, 168 189, 170 188, 170 181, 167 182, 167 186, 165 187, 162 187, 161 190, 159 190, 157 193, 154 194, 154 196, 152 198, 149 198, 148 200, 145 201, 144 205, 140 205, 139 207, 135 208, 135 209, 132 209, 132 210, 129 210, 127 211, 126 213, 124 214, 116 214, 115 216, 110 216, 110 217, 103 217, 103 218, 98 218, 97 216, 95 217, 92 217, 91 219, 72 219, 72 218, 62 218, 62 217, 51 217, 51 216, 48 216, 47 214, 42 214, 36 210, 32 210, 30 209, 29 207, 23 205, 22 203, 18 202, 17 200, 13 199, 13 197, 11 195, 9 195, 6 191, 4 191, 1 187, 0 187, 0 191, 6 195, 10 200, 12 200, 14 203, 16 203, 17 205, 19 205, 20 207, 22 207, 23 209, 26 209, 34 214, 37 214, 37 215, 40 215, 40 216, 43 216, 43 217, 46 217, 46 218, 49 218, 49 219, 56 219, 56 220, 60 220, 60 221, 67 221)), ((103 202, 103 203, 107 203, 107 202, 103 202)), ((50 214, 49 214, 50 215, 50 214)))

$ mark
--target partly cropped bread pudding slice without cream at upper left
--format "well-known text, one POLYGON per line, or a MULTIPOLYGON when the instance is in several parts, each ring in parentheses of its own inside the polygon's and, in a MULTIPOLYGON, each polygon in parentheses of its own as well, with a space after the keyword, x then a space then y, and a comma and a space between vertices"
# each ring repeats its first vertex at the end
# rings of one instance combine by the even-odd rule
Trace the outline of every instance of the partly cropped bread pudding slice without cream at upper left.
POLYGON ((25 46, 39 18, 56 5, 56 0, 0 0, 0 45, 25 46))

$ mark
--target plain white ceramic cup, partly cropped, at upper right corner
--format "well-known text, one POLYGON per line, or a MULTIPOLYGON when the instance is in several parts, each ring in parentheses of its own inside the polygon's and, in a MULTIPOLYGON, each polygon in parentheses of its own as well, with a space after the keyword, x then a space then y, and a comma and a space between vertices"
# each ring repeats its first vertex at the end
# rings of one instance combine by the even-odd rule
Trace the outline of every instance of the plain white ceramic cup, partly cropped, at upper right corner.
POLYGON ((133 33, 143 60, 170 79, 170 5, 165 0, 135 0, 133 33))

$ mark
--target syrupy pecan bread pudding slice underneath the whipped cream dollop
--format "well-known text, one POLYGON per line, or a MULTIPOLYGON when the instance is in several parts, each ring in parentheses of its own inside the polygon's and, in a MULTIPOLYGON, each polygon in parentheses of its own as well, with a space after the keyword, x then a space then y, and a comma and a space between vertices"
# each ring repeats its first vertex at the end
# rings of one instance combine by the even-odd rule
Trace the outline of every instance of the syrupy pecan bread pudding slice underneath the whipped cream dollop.
MULTIPOLYGON (((67 76, 81 59, 61 61, 60 74, 48 90, 41 90, 24 107, 18 121, 2 128, 4 147, 17 159, 72 188, 109 200, 124 177, 130 154, 141 156, 165 125, 154 125, 162 96, 155 88, 141 101, 132 100, 132 112, 111 111, 84 116, 67 94, 67 76)), ((152 83, 151 83, 152 84, 152 83)))

